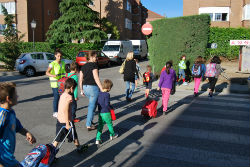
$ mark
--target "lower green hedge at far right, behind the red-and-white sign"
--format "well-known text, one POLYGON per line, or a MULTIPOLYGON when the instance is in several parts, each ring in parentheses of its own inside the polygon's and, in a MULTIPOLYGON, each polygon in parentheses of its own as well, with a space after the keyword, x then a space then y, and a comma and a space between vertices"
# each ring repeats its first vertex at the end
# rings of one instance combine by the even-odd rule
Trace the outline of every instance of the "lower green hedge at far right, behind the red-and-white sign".
POLYGON ((239 56, 239 46, 230 46, 230 40, 249 40, 250 29, 246 28, 210 28, 209 43, 217 43, 217 49, 207 49, 207 56, 223 56, 235 59, 239 56))

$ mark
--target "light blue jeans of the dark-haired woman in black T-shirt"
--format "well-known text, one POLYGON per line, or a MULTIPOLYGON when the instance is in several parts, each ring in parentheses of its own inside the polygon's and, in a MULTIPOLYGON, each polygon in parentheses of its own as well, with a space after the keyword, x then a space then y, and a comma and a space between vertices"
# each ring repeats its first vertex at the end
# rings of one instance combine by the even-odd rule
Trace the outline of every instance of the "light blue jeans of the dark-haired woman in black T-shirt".
POLYGON ((83 85, 84 94, 89 99, 89 106, 88 106, 88 115, 87 115, 87 122, 86 126, 90 127, 91 122, 93 121, 96 106, 97 106, 97 99, 99 95, 99 88, 95 85, 83 85))

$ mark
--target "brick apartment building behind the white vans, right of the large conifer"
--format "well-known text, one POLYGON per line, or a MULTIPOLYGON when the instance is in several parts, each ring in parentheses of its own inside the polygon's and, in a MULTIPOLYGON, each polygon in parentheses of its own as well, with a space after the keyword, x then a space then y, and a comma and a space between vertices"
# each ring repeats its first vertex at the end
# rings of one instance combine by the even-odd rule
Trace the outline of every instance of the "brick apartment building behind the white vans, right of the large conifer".
POLYGON ((117 26, 120 39, 145 38, 141 26, 146 23, 147 9, 140 0, 93 0, 90 7, 117 26))

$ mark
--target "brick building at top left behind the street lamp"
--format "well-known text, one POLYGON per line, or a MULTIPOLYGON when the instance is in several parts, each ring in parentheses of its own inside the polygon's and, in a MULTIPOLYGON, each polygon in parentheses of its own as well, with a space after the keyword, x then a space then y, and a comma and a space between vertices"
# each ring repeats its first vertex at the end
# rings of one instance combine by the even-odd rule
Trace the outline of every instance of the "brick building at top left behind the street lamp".
MULTIPOLYGON (((31 42, 33 40, 31 21, 37 22, 35 29, 35 41, 45 41, 46 32, 54 19, 59 17, 58 0, 0 0, 0 6, 3 5, 9 14, 16 16, 17 29, 25 34, 23 40, 31 42)), ((1 7, 0 7, 1 9, 1 7)), ((4 29, 4 16, 0 10, 0 28, 4 29)), ((3 36, 0 35, 0 42, 3 36)))

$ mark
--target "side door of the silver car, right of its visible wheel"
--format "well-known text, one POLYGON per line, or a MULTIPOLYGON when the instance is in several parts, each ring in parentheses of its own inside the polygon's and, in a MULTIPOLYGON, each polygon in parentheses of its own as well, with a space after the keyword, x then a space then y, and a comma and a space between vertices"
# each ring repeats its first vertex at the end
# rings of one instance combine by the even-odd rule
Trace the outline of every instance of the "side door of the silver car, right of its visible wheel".
POLYGON ((31 53, 30 56, 33 59, 34 67, 37 72, 46 71, 44 68, 46 65, 46 60, 44 59, 43 53, 31 53))

